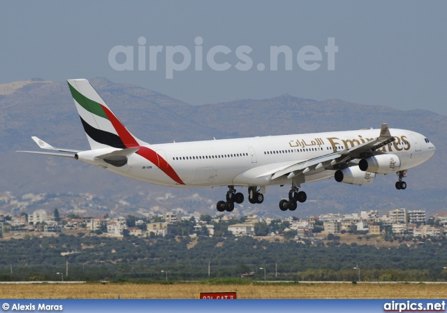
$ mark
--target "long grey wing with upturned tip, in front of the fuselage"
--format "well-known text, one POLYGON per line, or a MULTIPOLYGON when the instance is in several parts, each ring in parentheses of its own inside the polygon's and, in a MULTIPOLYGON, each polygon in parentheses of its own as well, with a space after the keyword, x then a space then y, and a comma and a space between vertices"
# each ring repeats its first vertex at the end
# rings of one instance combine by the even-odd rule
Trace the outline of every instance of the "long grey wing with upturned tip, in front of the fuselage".
POLYGON ((374 140, 367 141, 361 145, 356 145, 346 150, 339 152, 333 152, 330 154, 323 155, 322 157, 316 157, 314 159, 309 159, 306 161, 301 161, 295 163, 291 166, 277 170, 272 174, 270 180, 274 180, 283 175, 287 175, 287 178, 293 178, 296 175, 309 173, 312 170, 318 170, 319 168, 328 168, 329 166, 335 166, 339 163, 344 163, 352 159, 360 159, 362 157, 368 157, 373 154, 373 152, 388 143, 392 143, 395 140, 390 134, 388 125, 386 123, 382 124, 379 137, 374 140))

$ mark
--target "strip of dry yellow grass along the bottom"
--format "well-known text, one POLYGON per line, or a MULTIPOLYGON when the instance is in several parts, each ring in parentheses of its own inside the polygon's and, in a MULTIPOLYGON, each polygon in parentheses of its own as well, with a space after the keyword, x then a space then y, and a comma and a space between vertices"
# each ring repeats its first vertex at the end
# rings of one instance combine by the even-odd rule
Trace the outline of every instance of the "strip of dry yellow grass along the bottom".
POLYGON ((196 299, 230 291, 239 299, 417 299, 446 298, 447 284, 0 284, 3 299, 196 299))

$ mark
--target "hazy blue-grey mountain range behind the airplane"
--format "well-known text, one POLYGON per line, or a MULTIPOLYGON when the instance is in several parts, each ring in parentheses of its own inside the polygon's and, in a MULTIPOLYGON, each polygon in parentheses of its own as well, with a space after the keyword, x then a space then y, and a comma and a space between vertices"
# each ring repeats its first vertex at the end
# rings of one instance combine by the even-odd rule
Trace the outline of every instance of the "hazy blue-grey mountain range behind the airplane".
MULTIPOLYGON (((189 105, 106 78, 90 81, 126 127, 149 143, 379 128, 383 122, 391 128, 423 133, 437 147, 437 153, 427 163, 409 170, 406 191, 395 189, 395 175, 378 175, 367 186, 341 184, 333 179, 304 184, 308 201, 300 204, 293 215, 358 210, 387 214, 395 208, 427 210, 427 214, 447 210, 444 115, 338 99, 314 101, 288 94, 272 99, 189 105)), ((101 214, 113 210, 115 214, 149 214, 181 208, 214 214, 215 203, 226 194, 226 188, 159 187, 73 159, 15 152, 38 149, 31 136, 55 147, 89 149, 66 82, 33 79, 0 85, 0 214, 36 208, 53 210, 56 206, 61 213, 101 214), (36 198, 39 200, 31 201, 36 198)), ((290 215, 291 212, 278 208, 288 189, 289 186, 268 187, 263 204, 251 205, 246 201, 236 205, 235 213, 290 215)))

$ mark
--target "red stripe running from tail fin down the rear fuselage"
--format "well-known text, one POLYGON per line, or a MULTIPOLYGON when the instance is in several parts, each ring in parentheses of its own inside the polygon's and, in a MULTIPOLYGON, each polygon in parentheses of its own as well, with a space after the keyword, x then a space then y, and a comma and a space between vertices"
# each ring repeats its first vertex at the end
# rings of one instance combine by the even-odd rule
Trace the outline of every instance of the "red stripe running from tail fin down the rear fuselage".
POLYGON ((138 155, 140 155, 141 157, 147 159, 148 161, 152 162, 158 168, 160 168, 159 160, 161 161, 160 163, 166 162, 166 164, 167 164, 166 168, 160 168, 160 169, 163 170, 163 172, 166 175, 168 175, 172 180, 174 180, 178 184, 184 184, 184 182, 179 177, 179 175, 177 175, 177 173, 175 173, 175 170, 172 168, 172 166, 169 165, 168 161, 163 159, 160 156, 160 154, 157 154, 154 150, 149 149, 148 147, 140 146, 137 143, 137 140, 135 140, 135 138, 133 138, 131 133, 129 133, 129 131, 126 129, 126 127, 124 127, 124 125, 121 122, 119 122, 119 119, 117 119, 117 117, 112 112, 110 112, 110 110, 108 110, 108 108, 105 108, 104 105, 101 105, 101 107, 103 108, 105 115, 107 115, 108 119, 110 120, 113 127, 117 131, 119 138, 121 138, 121 140, 123 141, 123 143, 126 147, 140 148, 140 150, 138 150, 136 153, 138 155))

